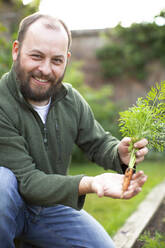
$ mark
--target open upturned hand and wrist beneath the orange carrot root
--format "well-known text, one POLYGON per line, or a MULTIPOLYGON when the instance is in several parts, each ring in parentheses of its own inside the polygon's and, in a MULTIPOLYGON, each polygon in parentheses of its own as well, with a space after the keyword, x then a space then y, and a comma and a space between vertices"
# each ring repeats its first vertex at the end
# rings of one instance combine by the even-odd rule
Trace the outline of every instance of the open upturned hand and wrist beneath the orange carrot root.
POLYGON ((124 175, 116 173, 104 173, 95 177, 84 176, 79 184, 79 195, 96 193, 99 197, 130 199, 141 191, 147 176, 143 171, 134 174, 128 190, 122 195, 123 180, 124 175))

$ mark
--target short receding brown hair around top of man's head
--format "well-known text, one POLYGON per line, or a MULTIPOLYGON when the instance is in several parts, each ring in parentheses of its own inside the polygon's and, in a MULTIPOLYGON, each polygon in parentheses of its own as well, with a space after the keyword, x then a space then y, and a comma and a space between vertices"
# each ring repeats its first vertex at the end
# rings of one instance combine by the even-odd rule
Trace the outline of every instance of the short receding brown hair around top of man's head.
MULTIPOLYGON (((55 27, 53 25, 53 22, 54 23, 60 23, 63 26, 63 28, 65 29, 65 31, 67 33, 67 36, 68 36, 68 50, 69 50, 70 47, 71 47, 71 43, 72 43, 72 36, 71 36, 70 30, 68 29, 68 27, 66 26, 64 21, 62 21, 59 18, 53 17, 51 15, 41 14, 39 12, 36 12, 36 13, 34 13, 32 15, 29 15, 29 16, 25 17, 20 22, 19 29, 18 29, 18 41, 19 41, 20 45, 23 42, 23 40, 25 38, 25 35, 26 35, 26 32, 27 32, 28 28, 30 27, 30 25, 33 24, 34 22, 36 22, 37 20, 41 19, 41 18, 46 19, 46 20, 51 20, 51 23, 48 24, 49 28, 53 29, 55 27)), ((47 25, 47 27, 48 27, 48 25, 47 25)))

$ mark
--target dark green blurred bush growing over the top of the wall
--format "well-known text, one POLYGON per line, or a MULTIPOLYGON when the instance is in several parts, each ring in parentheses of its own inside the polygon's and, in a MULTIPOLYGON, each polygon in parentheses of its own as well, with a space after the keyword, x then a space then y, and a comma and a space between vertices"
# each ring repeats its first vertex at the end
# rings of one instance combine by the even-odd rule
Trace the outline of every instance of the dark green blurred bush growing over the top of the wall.
MULTIPOLYGON (((160 13, 163 18, 164 12, 160 13)), ((157 16, 158 17, 158 16, 157 16)), ((107 44, 96 52, 105 78, 131 76, 144 80, 146 65, 159 60, 165 65, 165 25, 134 23, 124 28, 118 24, 107 34, 107 44)))

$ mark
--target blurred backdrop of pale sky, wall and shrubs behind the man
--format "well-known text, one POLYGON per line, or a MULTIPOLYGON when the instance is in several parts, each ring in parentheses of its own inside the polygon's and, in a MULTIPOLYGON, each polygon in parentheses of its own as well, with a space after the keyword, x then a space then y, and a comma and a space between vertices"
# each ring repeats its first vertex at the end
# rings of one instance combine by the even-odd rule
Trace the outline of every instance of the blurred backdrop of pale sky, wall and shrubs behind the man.
MULTIPOLYGON (((0 76, 12 65, 19 21, 40 11, 64 20, 72 31, 65 81, 91 105, 96 119, 121 139, 119 112, 165 80, 164 1, 0 0, 0 76)), ((150 153, 153 159, 164 154, 150 153)), ((73 160, 84 156, 75 148, 73 160)))

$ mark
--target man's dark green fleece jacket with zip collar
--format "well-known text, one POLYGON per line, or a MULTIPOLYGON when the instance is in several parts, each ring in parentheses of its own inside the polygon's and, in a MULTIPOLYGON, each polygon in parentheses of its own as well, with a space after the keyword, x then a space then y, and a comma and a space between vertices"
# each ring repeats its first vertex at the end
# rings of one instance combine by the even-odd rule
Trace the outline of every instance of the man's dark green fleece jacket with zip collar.
POLYGON ((81 209, 85 196, 78 196, 78 185, 83 175, 67 175, 73 145, 91 161, 120 173, 118 142, 70 84, 63 84, 52 99, 44 125, 19 91, 14 70, 0 80, 0 164, 14 172, 27 203, 81 209))

